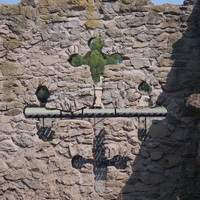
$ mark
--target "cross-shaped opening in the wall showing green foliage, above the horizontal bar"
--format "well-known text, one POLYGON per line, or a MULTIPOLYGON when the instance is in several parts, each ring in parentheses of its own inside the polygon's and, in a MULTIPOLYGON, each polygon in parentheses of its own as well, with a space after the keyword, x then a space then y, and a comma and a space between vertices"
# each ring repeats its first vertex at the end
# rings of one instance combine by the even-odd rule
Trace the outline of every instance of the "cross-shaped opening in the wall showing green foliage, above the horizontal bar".
POLYGON ((100 81, 100 76, 103 75, 106 65, 116 65, 122 63, 122 56, 118 53, 107 55, 102 53, 103 42, 100 38, 93 38, 89 41, 91 51, 84 57, 78 54, 72 55, 70 59, 71 65, 79 67, 81 65, 90 66, 90 72, 94 83, 100 81))

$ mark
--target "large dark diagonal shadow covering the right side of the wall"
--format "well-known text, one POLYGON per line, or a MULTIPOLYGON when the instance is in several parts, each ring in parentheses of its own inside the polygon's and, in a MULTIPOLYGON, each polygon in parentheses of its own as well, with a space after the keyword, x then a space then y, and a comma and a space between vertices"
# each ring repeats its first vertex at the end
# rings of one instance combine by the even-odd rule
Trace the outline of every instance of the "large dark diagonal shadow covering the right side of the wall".
POLYGON ((197 118, 181 117, 187 97, 200 93, 200 1, 187 23, 183 37, 173 45, 174 64, 158 98, 168 116, 149 128, 118 200, 200 198, 197 118))

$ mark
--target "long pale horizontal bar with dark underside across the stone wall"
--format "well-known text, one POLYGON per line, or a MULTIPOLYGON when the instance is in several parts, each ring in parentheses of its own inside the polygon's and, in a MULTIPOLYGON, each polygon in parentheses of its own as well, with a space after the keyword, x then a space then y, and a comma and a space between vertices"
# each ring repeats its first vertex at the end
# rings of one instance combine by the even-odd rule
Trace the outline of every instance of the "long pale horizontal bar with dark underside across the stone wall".
POLYGON ((155 108, 123 108, 123 109, 82 109, 74 112, 48 110, 46 108, 25 108, 26 118, 114 118, 114 117, 165 117, 164 107, 155 108))

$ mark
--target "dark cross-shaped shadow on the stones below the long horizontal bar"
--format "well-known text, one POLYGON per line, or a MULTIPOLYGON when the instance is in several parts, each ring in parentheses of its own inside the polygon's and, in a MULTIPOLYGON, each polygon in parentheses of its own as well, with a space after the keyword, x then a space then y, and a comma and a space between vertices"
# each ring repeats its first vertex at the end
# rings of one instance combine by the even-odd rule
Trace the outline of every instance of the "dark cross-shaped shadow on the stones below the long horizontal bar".
POLYGON ((128 161, 128 157, 123 157, 120 155, 116 155, 112 159, 107 159, 105 156, 105 148, 103 146, 104 139, 105 132, 102 129, 100 133, 95 137, 93 147, 93 160, 85 159, 80 155, 74 156, 72 159, 72 166, 76 169, 80 169, 86 163, 92 164, 94 166, 93 172, 95 175, 95 190, 97 192, 105 191, 107 167, 114 166, 117 169, 125 169, 128 161))

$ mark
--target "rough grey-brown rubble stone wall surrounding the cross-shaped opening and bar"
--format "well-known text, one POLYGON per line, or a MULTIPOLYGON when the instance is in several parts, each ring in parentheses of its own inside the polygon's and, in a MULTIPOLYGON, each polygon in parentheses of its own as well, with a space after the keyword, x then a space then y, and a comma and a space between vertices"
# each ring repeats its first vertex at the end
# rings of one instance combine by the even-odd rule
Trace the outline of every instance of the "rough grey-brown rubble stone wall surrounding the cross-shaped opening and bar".
POLYGON ((199 2, 154 6, 149 0, 22 0, 0 5, 1 199, 199 199, 198 118, 182 117, 187 97, 199 93, 199 2), (92 38, 103 53, 124 60, 105 66, 106 108, 165 106, 166 118, 26 119, 46 86, 49 108, 76 110, 94 103, 86 65, 92 38), (140 91, 146 82, 151 92, 140 91), (104 132, 106 158, 128 158, 97 180, 95 137, 104 132), (80 168, 72 159, 82 156, 80 168))

